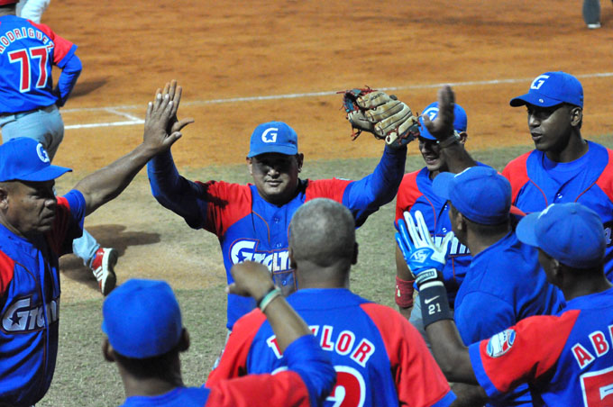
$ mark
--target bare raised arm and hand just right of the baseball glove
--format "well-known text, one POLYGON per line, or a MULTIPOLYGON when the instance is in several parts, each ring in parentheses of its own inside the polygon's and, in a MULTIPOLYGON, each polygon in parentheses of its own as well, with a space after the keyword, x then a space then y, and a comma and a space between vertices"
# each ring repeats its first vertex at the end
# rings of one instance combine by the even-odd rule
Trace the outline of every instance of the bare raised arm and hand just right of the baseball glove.
POLYGON ((468 167, 476 166, 477 162, 464 149, 460 139, 453 131, 454 105, 453 89, 445 85, 438 91, 438 115, 435 120, 431 121, 426 114, 422 116, 422 119, 426 129, 438 140, 441 154, 444 155, 449 171, 459 174, 468 167))

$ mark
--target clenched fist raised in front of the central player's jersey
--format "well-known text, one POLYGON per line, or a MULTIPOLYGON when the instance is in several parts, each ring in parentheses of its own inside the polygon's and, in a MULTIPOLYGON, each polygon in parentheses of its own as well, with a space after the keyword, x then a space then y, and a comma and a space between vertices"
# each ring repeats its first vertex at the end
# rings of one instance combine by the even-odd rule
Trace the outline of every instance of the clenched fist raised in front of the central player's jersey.
POLYGON ((261 263, 245 261, 233 265, 230 269, 234 282, 228 285, 225 291, 229 294, 251 296, 256 300, 274 288, 268 267, 261 263))

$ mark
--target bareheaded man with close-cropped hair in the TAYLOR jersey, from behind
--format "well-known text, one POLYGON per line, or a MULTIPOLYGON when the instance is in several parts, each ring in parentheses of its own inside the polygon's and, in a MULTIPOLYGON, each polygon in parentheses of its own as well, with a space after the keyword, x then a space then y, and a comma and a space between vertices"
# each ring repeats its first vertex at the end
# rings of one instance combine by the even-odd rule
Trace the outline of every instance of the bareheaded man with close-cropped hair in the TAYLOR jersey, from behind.
MULTIPOLYGON (((357 262, 352 213, 329 199, 302 205, 289 224, 289 256, 298 290, 288 303, 316 335, 336 369, 325 406, 414 407, 450 405, 449 384, 424 339, 395 310, 349 290, 357 262)), ((255 310, 234 325, 219 366, 206 384, 287 366, 278 338, 255 310)))

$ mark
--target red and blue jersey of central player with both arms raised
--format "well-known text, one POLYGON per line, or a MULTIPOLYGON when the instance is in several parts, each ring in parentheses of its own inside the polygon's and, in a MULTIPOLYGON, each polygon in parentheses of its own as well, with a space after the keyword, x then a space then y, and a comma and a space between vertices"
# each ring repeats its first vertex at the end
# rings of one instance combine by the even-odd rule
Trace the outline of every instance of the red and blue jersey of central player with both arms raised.
MULTIPOLYGON (((345 179, 300 180, 294 197, 281 206, 269 203, 255 185, 224 181, 191 182, 178 176, 169 153, 153 158, 147 166, 155 198, 182 216, 195 229, 215 233, 224 256, 228 284, 233 264, 250 260, 269 267, 284 294, 296 290, 294 270, 289 266, 288 227, 293 214, 306 201, 329 198, 352 212, 357 226, 381 205, 396 196, 404 174, 406 151, 385 149, 375 171, 358 181, 345 179)), ((255 302, 228 295, 228 329, 255 302)))

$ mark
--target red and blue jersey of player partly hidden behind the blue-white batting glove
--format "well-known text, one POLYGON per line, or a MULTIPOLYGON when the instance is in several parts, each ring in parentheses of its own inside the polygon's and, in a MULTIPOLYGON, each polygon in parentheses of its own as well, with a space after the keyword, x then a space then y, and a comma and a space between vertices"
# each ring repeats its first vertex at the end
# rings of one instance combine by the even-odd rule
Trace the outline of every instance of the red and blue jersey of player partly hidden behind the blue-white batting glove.
MULTIPOLYGON (((449 205, 444 198, 435 194, 432 189, 432 181, 427 167, 402 178, 396 198, 396 222, 402 219, 405 211, 412 215, 420 211, 424 215, 430 235, 435 243, 440 243, 444 235, 452 231, 452 223, 449 220, 449 205)), ((470 265, 471 252, 454 237, 449 245, 447 262, 443 269, 444 286, 452 308, 455 294, 470 265)))

